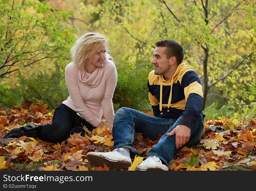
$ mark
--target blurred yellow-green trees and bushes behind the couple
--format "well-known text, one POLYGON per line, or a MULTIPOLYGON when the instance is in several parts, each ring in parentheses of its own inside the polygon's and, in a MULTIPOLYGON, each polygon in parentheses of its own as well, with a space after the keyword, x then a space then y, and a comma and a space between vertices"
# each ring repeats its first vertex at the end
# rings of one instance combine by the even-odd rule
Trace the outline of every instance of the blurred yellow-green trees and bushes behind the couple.
POLYGON ((115 109, 150 109, 146 82, 154 42, 169 38, 199 72, 207 119, 255 116, 253 0, 0 1, 1 106, 60 104, 68 95, 63 69, 69 49, 95 31, 109 38, 118 70, 115 109))

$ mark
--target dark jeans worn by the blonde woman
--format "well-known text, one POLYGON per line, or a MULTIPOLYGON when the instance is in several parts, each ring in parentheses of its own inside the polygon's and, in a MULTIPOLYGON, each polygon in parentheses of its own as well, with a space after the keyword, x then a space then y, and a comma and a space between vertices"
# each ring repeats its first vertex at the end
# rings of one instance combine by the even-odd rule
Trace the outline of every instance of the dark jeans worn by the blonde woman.
POLYGON ((93 127, 85 119, 77 115, 77 112, 67 107, 64 104, 56 107, 52 124, 44 124, 37 134, 38 138, 47 142, 62 142, 70 137, 70 134, 81 133, 82 136, 85 135, 83 126, 89 131, 92 131, 93 127))

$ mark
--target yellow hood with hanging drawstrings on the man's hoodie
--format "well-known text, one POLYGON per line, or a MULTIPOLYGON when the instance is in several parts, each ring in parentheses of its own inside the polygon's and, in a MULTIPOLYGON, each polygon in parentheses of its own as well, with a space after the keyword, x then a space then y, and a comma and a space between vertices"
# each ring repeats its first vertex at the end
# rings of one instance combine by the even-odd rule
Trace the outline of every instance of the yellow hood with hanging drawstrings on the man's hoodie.
POLYGON ((179 83, 181 84, 181 80, 182 80, 182 76, 188 71, 188 70, 193 70, 196 73, 198 73, 193 67, 190 67, 187 65, 187 61, 182 61, 182 63, 180 63, 175 71, 175 73, 173 74, 173 76, 166 81, 163 77, 163 75, 158 75, 158 78, 160 80, 160 103, 159 103, 159 109, 160 109, 160 114, 162 113, 162 108, 163 108, 163 103, 162 103, 162 95, 163 95, 163 83, 165 82, 171 82, 170 86, 171 86, 171 90, 170 90, 170 96, 168 99, 168 112, 169 112, 169 108, 171 105, 171 100, 172 100, 172 92, 173 92, 173 82, 179 81, 179 83))

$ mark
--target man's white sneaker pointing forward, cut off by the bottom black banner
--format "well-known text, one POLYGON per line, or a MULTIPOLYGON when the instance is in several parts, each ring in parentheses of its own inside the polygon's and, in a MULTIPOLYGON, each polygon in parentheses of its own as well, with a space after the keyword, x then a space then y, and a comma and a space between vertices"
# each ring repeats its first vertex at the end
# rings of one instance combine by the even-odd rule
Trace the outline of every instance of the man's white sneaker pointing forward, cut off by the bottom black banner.
POLYGON ((162 164, 161 160, 157 156, 152 156, 139 164, 136 167, 136 170, 168 170, 168 167, 162 164))

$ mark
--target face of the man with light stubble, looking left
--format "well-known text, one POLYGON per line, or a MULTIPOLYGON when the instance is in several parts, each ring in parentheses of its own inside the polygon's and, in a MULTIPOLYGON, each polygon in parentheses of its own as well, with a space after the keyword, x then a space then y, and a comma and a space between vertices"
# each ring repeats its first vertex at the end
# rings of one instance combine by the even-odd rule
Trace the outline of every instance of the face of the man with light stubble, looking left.
POLYGON ((154 64, 154 74, 156 75, 165 75, 171 70, 170 59, 167 58, 165 49, 166 47, 156 47, 153 53, 154 59, 151 63, 154 64))

